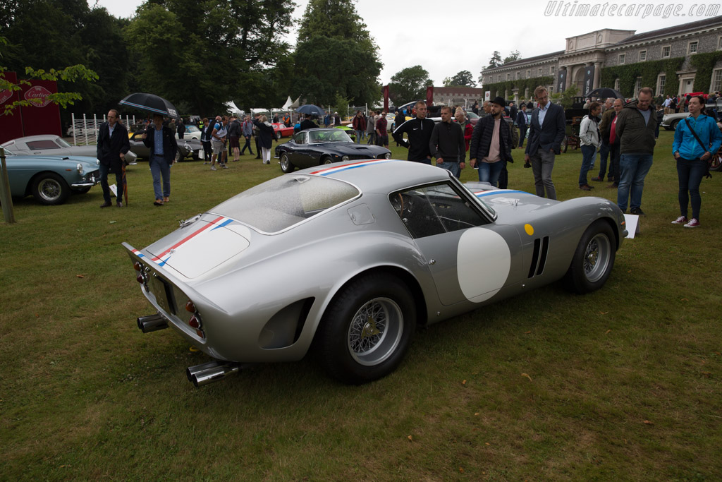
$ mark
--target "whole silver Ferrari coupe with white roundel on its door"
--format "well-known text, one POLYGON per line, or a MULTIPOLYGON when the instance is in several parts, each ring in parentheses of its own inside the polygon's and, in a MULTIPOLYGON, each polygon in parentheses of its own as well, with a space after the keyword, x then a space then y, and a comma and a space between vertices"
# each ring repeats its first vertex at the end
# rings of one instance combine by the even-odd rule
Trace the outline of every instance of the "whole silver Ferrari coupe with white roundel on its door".
POLYGON ((552 201, 381 159, 285 174, 145 249, 123 246, 156 311, 139 328, 173 327, 214 358, 186 371, 196 386, 309 350, 361 384, 399 366, 419 325, 557 280, 601 288, 626 235, 606 199, 552 201))

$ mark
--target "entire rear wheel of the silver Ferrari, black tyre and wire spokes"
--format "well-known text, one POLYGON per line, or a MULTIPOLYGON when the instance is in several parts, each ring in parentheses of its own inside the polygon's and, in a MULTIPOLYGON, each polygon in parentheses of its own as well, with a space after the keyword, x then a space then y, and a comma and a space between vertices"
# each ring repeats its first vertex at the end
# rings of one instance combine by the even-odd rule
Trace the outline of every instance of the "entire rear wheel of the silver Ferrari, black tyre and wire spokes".
POLYGON ((367 275, 336 293, 316 333, 316 357, 330 376, 348 384, 396 370, 416 329, 409 288, 388 275, 367 275))

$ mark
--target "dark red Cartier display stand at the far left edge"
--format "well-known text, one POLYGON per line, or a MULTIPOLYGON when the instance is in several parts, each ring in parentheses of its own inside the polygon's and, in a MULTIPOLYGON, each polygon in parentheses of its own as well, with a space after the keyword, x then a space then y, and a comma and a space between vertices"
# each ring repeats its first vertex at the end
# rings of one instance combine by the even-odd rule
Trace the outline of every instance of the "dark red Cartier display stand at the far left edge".
MULTIPOLYGON (((4 72, 4 78, 17 84, 15 72, 4 72)), ((0 115, 0 143, 18 137, 35 134, 56 134, 62 136, 60 108, 48 100, 48 95, 58 92, 56 82, 52 80, 30 80, 30 85, 22 85, 21 90, 0 91, 0 113, 4 106, 17 100, 35 100, 32 106, 19 107, 12 114, 0 115)))

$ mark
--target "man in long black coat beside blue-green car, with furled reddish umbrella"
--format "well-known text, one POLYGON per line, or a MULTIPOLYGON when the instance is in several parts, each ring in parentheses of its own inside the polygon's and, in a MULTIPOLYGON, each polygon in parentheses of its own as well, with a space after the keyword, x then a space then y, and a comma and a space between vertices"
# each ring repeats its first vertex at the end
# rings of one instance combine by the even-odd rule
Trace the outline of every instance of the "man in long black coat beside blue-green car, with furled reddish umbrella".
POLYGON ((100 207, 112 206, 110 202, 110 186, 108 186, 108 173, 116 174, 116 186, 118 187, 116 205, 123 207, 121 197, 123 195, 123 165, 126 152, 131 145, 128 142, 128 129, 118 122, 118 111, 108 111, 108 122, 100 124, 97 133, 97 159, 100 160, 100 186, 103 188, 103 202, 100 207))

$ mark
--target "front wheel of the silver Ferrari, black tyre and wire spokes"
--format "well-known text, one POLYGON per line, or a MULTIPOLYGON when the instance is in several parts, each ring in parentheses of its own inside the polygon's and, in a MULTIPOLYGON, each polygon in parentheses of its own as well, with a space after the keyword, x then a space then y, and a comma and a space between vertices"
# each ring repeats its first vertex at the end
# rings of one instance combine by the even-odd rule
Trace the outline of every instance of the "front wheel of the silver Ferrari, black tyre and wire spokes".
POLYGON ((564 287, 578 294, 599 290, 612 272, 616 254, 612 227, 604 220, 596 221, 586 228, 579 240, 564 276, 564 287))

